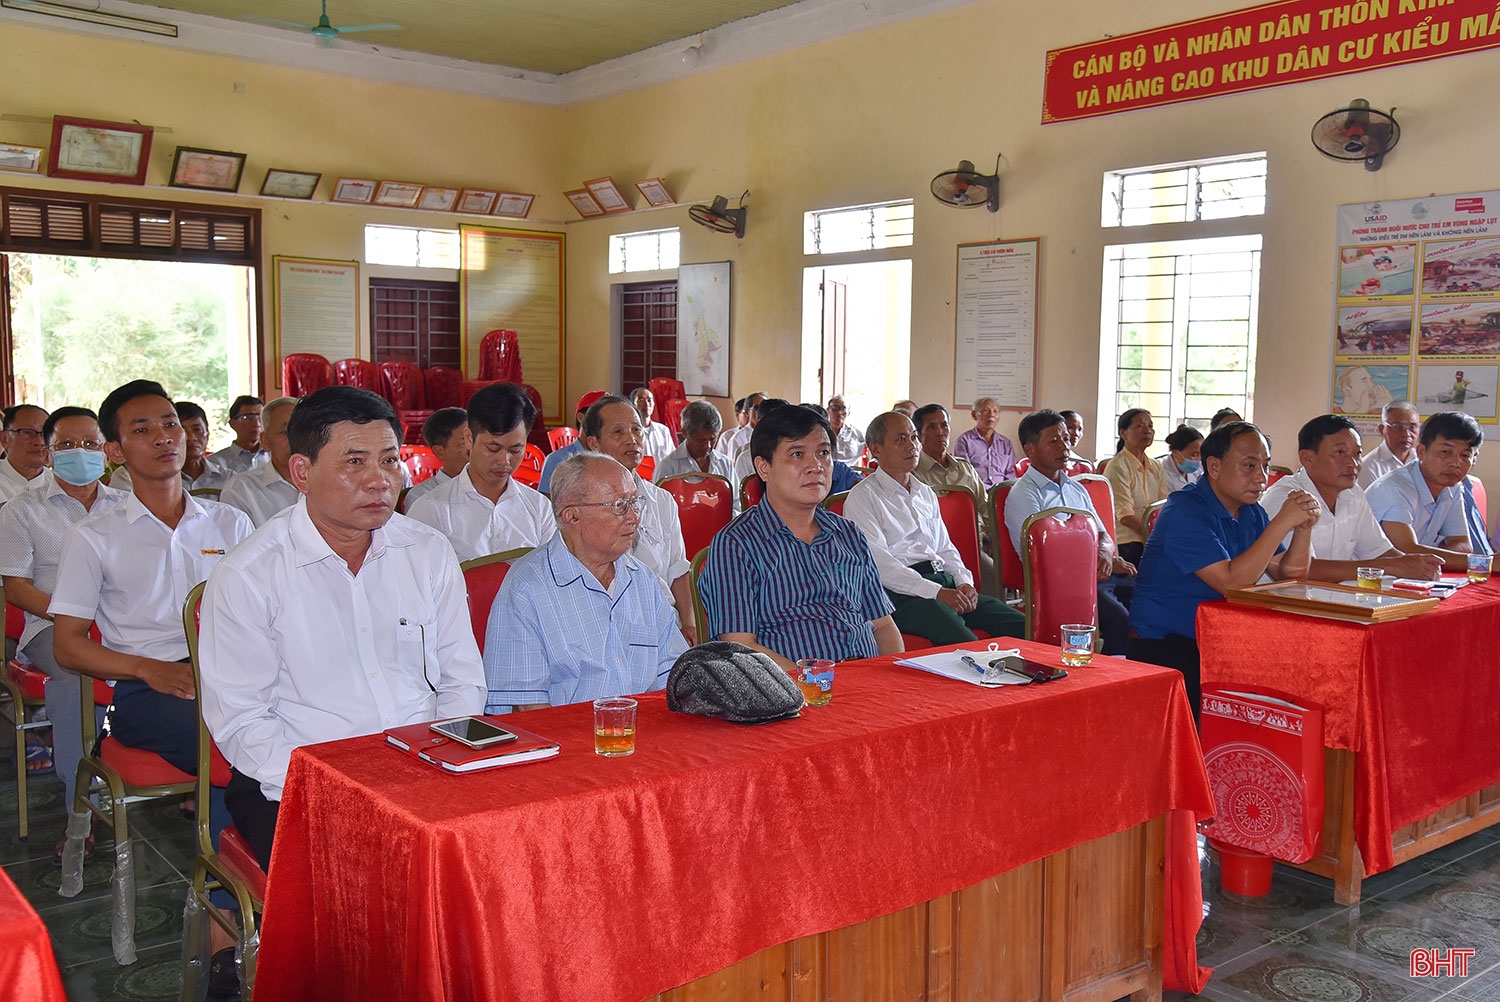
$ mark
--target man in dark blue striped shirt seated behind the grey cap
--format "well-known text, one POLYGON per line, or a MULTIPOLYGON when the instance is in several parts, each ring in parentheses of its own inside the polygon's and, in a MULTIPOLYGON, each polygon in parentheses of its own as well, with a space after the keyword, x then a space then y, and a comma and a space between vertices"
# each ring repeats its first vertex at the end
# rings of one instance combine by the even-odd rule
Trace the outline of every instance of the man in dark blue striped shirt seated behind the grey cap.
POLYGON ((708 633, 798 658, 846 662, 902 651, 864 534, 820 507, 832 471, 828 422, 782 406, 750 436, 765 500, 714 536, 700 582, 708 633))

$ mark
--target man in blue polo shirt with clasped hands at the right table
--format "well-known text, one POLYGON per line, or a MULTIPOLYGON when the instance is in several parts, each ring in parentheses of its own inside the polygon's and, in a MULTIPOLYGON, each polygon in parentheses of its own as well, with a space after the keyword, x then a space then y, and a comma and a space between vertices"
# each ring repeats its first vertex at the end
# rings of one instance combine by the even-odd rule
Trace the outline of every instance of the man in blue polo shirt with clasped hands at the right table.
POLYGON ((1198 604, 1262 574, 1305 578, 1322 507, 1293 490, 1272 518, 1260 507, 1270 448, 1250 422, 1226 422, 1203 440, 1203 477, 1167 495, 1136 578, 1130 658, 1182 672, 1198 714, 1198 604), (1292 542, 1282 548, 1282 537, 1292 542))

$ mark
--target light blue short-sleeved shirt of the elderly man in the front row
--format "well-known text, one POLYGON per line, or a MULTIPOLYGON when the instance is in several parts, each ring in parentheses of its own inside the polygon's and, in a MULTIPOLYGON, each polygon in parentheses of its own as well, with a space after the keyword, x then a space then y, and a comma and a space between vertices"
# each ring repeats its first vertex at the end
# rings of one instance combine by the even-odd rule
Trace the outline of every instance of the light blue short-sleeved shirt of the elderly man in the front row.
POLYGON ((484 630, 489 712, 585 702, 666 687, 687 650, 651 570, 630 554, 604 590, 558 532, 506 574, 484 630))

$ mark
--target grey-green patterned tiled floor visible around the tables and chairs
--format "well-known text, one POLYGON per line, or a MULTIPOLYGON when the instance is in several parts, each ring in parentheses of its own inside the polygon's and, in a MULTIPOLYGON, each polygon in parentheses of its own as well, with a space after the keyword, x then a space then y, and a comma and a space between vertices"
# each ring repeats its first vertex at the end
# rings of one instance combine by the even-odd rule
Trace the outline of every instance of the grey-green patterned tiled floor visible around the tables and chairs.
MULTIPOLYGON (((74 1002, 177 999, 182 914, 192 826, 176 801, 130 807, 136 832, 136 951, 129 968, 110 951, 111 846, 100 834, 84 891, 57 896, 52 849, 63 830, 62 784, 32 782, 32 840, 16 837, 15 766, 0 754, 0 864, 40 912, 74 1002)), ((1334 904, 1323 880, 1276 867, 1266 897, 1218 890, 1203 862, 1198 962, 1215 968, 1203 999, 1221 1002, 1500 1002, 1500 828, 1472 836, 1365 884, 1358 908, 1334 904), (1412 978, 1418 946, 1472 948, 1466 978, 1412 978)), ((1168 998, 1184 999, 1168 993, 1168 998)), ((996 1002, 1005 1002, 996 1000, 996 1002)))

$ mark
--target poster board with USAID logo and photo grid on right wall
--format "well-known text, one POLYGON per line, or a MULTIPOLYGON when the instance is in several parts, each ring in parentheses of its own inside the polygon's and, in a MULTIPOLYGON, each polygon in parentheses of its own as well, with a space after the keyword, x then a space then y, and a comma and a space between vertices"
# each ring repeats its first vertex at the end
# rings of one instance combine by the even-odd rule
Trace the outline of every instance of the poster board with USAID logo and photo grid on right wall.
POLYGON ((1338 208, 1332 406, 1394 399, 1500 436, 1500 190, 1338 208))

